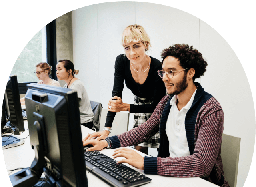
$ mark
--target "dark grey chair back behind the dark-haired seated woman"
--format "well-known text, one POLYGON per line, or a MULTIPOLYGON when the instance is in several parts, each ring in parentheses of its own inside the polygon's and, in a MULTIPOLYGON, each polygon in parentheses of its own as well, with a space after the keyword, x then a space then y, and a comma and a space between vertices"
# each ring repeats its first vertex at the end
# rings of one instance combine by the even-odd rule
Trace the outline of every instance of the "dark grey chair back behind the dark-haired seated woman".
POLYGON ((95 101, 90 101, 90 104, 92 107, 92 112, 94 114, 92 130, 98 132, 100 129, 100 116, 101 116, 102 104, 95 101))

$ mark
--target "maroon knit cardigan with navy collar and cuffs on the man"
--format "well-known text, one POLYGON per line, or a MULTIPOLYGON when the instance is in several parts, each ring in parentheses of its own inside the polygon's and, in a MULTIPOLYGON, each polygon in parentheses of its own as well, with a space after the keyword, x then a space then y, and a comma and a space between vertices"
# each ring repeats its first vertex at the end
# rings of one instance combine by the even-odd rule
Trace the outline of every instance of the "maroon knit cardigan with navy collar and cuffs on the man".
POLYGON ((224 114, 218 101, 205 92, 199 83, 195 82, 195 84, 198 89, 185 118, 189 156, 169 157, 169 141, 165 129, 173 95, 163 97, 145 123, 121 135, 110 137, 111 148, 138 145, 147 141, 159 130, 158 157, 145 156, 146 174, 201 177, 216 185, 228 187, 220 157, 224 114))

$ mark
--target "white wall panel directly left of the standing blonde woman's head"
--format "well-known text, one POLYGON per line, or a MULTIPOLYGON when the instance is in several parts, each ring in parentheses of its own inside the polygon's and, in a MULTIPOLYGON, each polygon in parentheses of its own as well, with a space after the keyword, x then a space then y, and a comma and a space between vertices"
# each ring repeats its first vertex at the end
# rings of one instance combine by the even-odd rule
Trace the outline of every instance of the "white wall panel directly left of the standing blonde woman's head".
MULTIPOLYGON (((112 95, 115 60, 124 53, 122 32, 128 25, 135 23, 135 9, 134 2, 109 2, 97 6, 100 97, 103 108, 107 108, 112 95)), ((122 101, 134 102, 132 92, 126 86, 122 101)))

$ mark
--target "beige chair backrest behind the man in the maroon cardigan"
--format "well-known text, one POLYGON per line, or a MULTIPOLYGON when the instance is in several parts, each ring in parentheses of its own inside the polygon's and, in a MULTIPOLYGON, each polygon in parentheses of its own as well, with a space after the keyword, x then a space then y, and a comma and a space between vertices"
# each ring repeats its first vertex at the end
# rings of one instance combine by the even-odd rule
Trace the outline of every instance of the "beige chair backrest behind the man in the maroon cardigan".
POLYGON ((241 138, 222 134, 221 159, 224 177, 230 187, 236 187, 241 138))

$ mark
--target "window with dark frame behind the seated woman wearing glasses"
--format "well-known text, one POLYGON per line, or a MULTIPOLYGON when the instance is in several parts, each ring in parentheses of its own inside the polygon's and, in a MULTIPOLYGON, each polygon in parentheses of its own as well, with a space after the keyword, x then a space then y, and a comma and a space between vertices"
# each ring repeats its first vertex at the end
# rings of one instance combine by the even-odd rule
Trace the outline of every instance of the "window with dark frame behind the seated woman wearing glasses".
POLYGON ((12 68, 11 73, 17 75, 20 94, 26 94, 27 84, 38 82, 34 72, 40 62, 52 66, 52 78, 57 80, 56 59, 56 26, 53 20, 31 38, 12 68))

